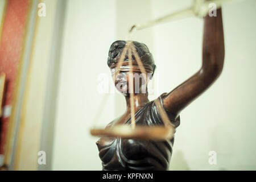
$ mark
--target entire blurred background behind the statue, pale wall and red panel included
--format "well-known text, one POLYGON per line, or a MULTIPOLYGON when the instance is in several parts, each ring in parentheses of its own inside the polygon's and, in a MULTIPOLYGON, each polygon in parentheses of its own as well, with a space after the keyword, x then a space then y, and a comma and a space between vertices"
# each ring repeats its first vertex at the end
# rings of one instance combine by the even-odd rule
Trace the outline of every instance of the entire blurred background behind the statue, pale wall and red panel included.
MULTIPOLYGON (((0 0, 0 166, 101 170, 98 138, 89 129, 105 126, 126 109, 123 96, 113 92, 110 45, 125 40, 135 23, 191 5, 191 0, 0 0), (99 92, 102 82, 108 93, 99 92), (38 162, 39 151, 46 164, 38 162)), ((180 114, 170 170, 256 170, 255 7, 254 0, 222 6, 224 69, 180 114), (216 152, 216 164, 208 162, 210 151, 216 152)), ((133 40, 145 43, 155 59, 151 100, 201 67, 203 19, 159 24, 134 32, 133 40)))

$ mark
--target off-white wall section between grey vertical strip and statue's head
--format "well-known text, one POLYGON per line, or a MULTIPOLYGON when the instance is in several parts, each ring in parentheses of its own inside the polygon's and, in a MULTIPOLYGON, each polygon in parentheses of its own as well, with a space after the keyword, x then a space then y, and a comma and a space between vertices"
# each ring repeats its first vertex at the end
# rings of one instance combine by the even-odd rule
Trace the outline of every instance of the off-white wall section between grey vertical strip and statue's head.
POLYGON ((97 115, 106 125, 113 118, 113 94, 97 91, 98 75, 109 74, 107 56, 115 40, 115 1, 68 1, 57 98, 53 170, 101 170, 89 128, 97 115))

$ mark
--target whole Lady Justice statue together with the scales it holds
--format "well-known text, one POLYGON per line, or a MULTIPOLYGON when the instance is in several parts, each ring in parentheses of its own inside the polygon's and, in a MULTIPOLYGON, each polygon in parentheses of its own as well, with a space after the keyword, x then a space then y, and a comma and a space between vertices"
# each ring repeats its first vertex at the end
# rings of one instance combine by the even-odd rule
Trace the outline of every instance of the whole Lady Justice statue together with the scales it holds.
POLYGON ((91 135, 100 137, 96 144, 103 170, 168 170, 180 111, 221 74, 225 52, 221 5, 228 1, 231 0, 193 1, 188 9, 135 24, 129 30, 127 41, 118 40, 110 46, 108 66, 115 87, 126 98, 127 111, 104 129, 90 129, 91 135), (130 41, 131 34, 134 30, 188 16, 204 18, 202 66, 171 92, 149 101, 147 83, 156 66, 147 46, 130 41))

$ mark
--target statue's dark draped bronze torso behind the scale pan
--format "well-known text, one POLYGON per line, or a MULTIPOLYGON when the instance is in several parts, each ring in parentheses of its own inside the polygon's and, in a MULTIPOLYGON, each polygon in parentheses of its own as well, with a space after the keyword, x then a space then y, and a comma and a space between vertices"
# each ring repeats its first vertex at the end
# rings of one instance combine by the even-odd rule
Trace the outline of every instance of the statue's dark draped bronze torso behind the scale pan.
MULTIPOLYGON (((159 97, 160 99, 161 96, 159 97)), ((136 125, 163 125, 154 101, 135 113, 136 125)), ((171 119, 170 119, 171 120, 171 119)), ((130 119, 125 123, 130 125, 130 119)), ((178 117, 172 125, 179 126, 178 117)), ((108 125, 111 127, 112 123, 108 125)), ((102 137, 98 140, 103 170, 167 170, 172 154, 171 140, 140 140, 102 137)))

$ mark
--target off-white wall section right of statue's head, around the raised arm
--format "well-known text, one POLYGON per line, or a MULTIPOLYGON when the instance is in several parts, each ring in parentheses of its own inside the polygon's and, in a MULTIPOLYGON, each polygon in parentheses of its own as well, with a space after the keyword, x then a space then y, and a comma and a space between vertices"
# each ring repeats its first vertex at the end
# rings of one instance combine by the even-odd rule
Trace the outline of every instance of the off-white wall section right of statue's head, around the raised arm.
MULTIPOLYGON (((160 2, 152 1, 154 18, 191 3, 160 2)), ((224 69, 180 114, 170 169, 256 169, 255 5, 251 0, 223 6, 224 69), (208 164, 212 150, 217 152, 213 166, 208 164)), ((159 91, 170 92, 200 68, 203 20, 182 19, 153 30, 159 91)))

